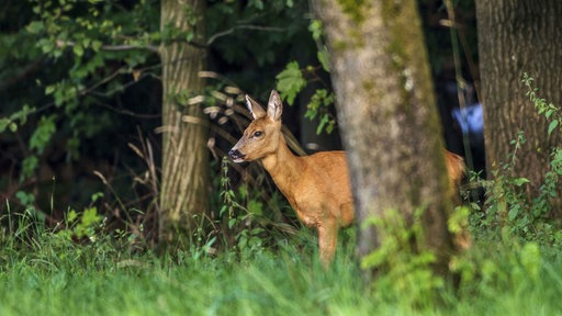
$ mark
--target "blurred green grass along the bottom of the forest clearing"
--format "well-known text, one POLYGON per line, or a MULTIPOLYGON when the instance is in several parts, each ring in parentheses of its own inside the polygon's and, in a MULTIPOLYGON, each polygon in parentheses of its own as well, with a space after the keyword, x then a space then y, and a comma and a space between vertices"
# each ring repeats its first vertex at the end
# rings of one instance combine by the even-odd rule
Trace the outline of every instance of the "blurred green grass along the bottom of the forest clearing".
POLYGON ((0 315, 562 314, 560 249, 536 244, 476 242, 460 260, 460 289, 445 286, 436 302, 413 306, 387 283, 366 285, 351 245, 325 271, 310 247, 172 258, 131 255, 109 238, 10 240, 0 249, 0 315))

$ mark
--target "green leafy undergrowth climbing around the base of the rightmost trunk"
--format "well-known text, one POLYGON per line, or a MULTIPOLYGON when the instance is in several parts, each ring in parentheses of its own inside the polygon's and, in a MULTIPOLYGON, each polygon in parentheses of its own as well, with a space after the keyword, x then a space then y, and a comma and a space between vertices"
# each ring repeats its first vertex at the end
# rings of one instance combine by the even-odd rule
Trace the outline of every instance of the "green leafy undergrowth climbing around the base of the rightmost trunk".
MULTIPOLYGON (((527 74, 522 82, 528 88, 527 95, 533 103, 537 112, 550 121, 548 133, 559 133, 558 125, 560 109, 552 103, 547 103, 537 97, 537 89, 532 87, 533 79, 527 74)), ((517 138, 512 140, 514 147, 508 161, 495 166, 492 170, 493 179, 482 181, 487 194, 485 214, 476 222, 476 226, 505 227, 514 236, 520 236, 528 240, 540 242, 560 242, 562 234, 559 232, 560 223, 552 221, 551 200, 558 199, 558 183, 562 176, 562 148, 551 148, 550 168, 544 173, 544 182, 540 185, 539 194, 529 195, 530 181, 526 178, 515 177, 513 167, 518 163, 517 155, 521 145, 527 142, 525 133, 520 131, 517 138)), ((476 212, 476 214, 482 214, 476 212)))

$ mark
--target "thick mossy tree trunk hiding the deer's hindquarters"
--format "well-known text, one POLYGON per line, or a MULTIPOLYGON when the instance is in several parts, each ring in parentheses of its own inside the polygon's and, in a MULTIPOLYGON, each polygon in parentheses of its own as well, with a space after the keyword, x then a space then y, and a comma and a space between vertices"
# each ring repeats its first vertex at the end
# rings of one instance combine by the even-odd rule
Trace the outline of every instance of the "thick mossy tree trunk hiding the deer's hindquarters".
POLYGON ((348 151, 359 227, 367 256, 386 232, 362 225, 398 211, 412 224, 423 207, 418 250, 447 270, 453 250, 447 229, 452 210, 436 102, 414 0, 313 1, 331 57, 338 122, 348 151))

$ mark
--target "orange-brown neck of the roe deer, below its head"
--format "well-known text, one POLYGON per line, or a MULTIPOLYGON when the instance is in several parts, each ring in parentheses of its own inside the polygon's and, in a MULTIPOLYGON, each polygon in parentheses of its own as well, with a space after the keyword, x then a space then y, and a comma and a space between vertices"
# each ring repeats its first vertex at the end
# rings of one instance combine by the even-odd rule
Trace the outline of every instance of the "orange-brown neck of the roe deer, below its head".
POLYGON ((302 176, 303 161, 291 153, 282 134, 279 136, 279 149, 263 157, 261 162, 273 178, 279 190, 292 202, 293 189, 302 176))

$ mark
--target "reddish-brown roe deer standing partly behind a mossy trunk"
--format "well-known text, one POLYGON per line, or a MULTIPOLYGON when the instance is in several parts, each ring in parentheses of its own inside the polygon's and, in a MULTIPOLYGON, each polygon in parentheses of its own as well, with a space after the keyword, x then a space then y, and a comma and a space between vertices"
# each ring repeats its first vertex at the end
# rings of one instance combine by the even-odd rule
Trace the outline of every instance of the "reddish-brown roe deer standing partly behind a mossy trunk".
MULTIPOLYGON (((336 251, 338 228, 353 223, 346 153, 296 157, 281 132, 283 105, 279 93, 271 91, 267 112, 248 95, 246 103, 254 121, 228 156, 234 162, 261 160, 299 219, 317 229, 321 261, 328 266, 336 251)), ((462 158, 449 151, 446 157, 449 179, 457 183, 464 170, 462 158)))

